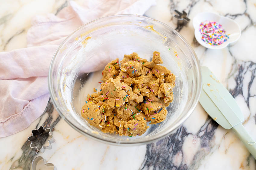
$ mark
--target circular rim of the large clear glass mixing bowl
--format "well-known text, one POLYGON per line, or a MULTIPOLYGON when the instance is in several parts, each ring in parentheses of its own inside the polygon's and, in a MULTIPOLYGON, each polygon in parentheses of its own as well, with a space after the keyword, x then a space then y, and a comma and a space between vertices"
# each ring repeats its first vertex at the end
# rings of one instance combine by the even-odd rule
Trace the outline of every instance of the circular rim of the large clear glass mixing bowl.
POLYGON ((54 107, 56 108, 57 112, 59 113, 59 115, 62 117, 62 119, 64 119, 72 128, 74 128, 76 131, 80 132, 81 134, 85 135, 85 136, 88 136, 90 138, 93 138, 94 140, 96 141, 100 141, 100 142, 103 142, 103 143, 106 143, 106 144, 111 144, 111 145, 126 145, 126 146, 135 146, 135 145, 142 145, 142 144, 149 144, 149 143, 152 143, 154 141, 158 141, 166 136, 168 136, 169 134, 171 134, 172 131, 176 130, 180 125, 182 125, 182 123, 191 115, 191 113, 193 112, 193 110, 195 109, 197 103, 198 103, 198 100, 199 100, 199 97, 200 97, 200 93, 201 93, 201 88, 202 88, 202 73, 201 73, 201 69, 200 69, 200 62, 197 58, 197 55, 195 53, 195 51, 193 50, 193 48, 190 46, 190 44, 187 42, 186 39, 184 39, 183 36, 181 36, 175 29, 171 28, 170 26, 168 26, 167 24, 165 23, 162 23, 161 21, 158 21, 158 20, 155 20, 155 19, 152 19, 152 18, 149 18, 149 17, 144 17, 144 16, 140 16, 140 15, 132 15, 132 14, 120 14, 120 15, 111 15, 111 16, 107 16, 107 17, 101 17, 101 18, 98 18, 96 20, 93 20, 89 23, 86 23, 80 27, 78 27, 75 31, 73 31, 60 45, 59 45, 59 48, 56 50, 56 52, 54 53, 53 55, 53 58, 51 60, 51 63, 50 63, 50 67, 49 67, 49 73, 48 73, 48 88, 49 88, 49 92, 50 92, 50 98, 51 98, 51 101, 53 102, 53 105, 54 107), (70 36, 72 36, 73 34, 75 34, 75 32, 77 32, 78 30, 82 29, 83 27, 89 25, 89 24, 92 24, 92 23, 95 23, 95 22, 98 22, 99 20, 107 20, 108 18, 111 18, 111 17, 139 17, 141 19, 146 19, 146 20, 151 20, 152 22, 157 22, 157 23, 160 23, 162 24, 163 26, 165 26, 167 29, 170 29, 172 32, 174 32, 176 34, 176 36, 178 36, 180 39, 183 40, 183 42, 188 46, 190 47, 190 51, 193 53, 194 55, 194 61, 196 63, 196 69, 197 69, 197 79, 198 79, 198 86, 196 87, 196 94, 194 96, 194 99, 191 99, 191 101, 193 101, 193 107, 191 107, 189 109, 189 111, 187 112, 187 114, 185 114, 185 116, 176 124, 174 125, 171 129, 169 129, 168 132, 165 132, 162 134, 162 136, 160 137, 151 137, 151 138, 144 138, 144 140, 141 140, 141 141, 132 141, 132 140, 128 140, 128 141, 120 141, 120 142, 116 142, 115 140, 111 140, 111 139, 107 139, 107 138, 101 138, 99 135, 96 135, 96 134, 93 134, 93 133, 88 133, 88 132, 85 132, 83 131, 82 129, 76 127, 72 122, 70 122, 68 119, 66 119, 66 117, 62 114, 62 111, 59 109, 60 107, 58 106, 58 104, 56 103, 56 101, 54 100, 55 97, 57 97, 55 94, 54 94, 54 90, 53 90, 53 76, 52 76, 52 73, 53 73, 53 64, 54 64, 54 61, 56 59, 56 55, 58 54, 59 50, 62 48, 62 46, 65 44, 65 42, 69 39, 70 36))

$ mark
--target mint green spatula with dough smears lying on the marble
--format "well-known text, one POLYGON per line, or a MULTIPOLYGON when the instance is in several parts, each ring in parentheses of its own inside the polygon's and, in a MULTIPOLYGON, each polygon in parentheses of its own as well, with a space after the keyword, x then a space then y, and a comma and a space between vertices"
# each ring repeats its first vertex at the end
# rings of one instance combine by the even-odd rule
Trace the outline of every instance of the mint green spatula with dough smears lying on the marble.
POLYGON ((235 99, 207 67, 202 67, 201 70, 203 86, 199 99, 200 104, 219 125, 225 129, 232 128, 256 159, 256 142, 242 124, 244 116, 235 99))

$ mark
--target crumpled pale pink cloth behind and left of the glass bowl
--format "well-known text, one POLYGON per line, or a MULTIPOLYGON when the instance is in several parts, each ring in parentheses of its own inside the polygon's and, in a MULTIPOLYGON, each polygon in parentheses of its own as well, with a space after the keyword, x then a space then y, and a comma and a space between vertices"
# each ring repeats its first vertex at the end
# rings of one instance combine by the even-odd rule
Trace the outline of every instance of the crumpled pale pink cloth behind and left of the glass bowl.
POLYGON ((58 15, 36 16, 27 32, 27 48, 0 53, 0 137, 27 128, 49 100, 47 75, 59 44, 79 26, 114 14, 143 15, 155 0, 70 1, 58 15))

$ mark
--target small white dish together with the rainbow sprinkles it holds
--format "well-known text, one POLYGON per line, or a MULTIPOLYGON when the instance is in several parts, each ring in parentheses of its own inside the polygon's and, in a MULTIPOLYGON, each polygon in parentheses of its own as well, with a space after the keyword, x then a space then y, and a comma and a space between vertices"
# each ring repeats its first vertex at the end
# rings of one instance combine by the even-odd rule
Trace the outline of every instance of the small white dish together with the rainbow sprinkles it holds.
POLYGON ((193 19, 193 26, 197 42, 210 49, 225 48, 241 36, 238 23, 212 12, 197 14, 193 19))

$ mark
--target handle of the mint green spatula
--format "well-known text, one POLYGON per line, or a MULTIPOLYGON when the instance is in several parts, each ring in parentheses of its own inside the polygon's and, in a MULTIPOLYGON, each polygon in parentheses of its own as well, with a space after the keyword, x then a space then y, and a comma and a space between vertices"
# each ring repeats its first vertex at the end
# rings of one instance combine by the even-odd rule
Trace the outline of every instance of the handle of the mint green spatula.
POLYGON ((251 135, 245 129, 242 123, 235 125, 232 130, 240 138, 243 144, 247 147, 251 155, 256 159, 256 142, 251 138, 251 135))

